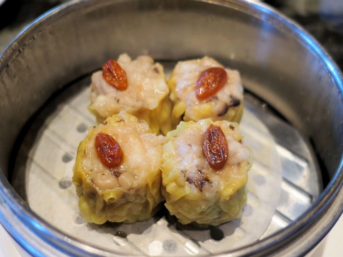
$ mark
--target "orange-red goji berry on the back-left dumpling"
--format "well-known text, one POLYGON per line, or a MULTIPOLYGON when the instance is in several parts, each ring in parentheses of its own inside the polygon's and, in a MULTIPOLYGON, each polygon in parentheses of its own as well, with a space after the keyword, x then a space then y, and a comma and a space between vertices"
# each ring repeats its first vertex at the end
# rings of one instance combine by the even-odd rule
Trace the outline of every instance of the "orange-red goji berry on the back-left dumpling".
POLYGON ((102 77, 112 87, 124 91, 127 89, 127 77, 123 68, 112 59, 102 66, 102 77))

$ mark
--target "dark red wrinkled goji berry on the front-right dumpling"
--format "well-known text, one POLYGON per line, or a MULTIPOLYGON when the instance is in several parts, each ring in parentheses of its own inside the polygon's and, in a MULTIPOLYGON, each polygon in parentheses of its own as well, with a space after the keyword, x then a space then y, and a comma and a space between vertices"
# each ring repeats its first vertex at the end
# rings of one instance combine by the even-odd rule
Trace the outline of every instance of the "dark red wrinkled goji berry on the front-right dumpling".
POLYGON ((204 134, 202 152, 210 166, 221 169, 228 156, 227 141, 221 127, 211 124, 204 134))

